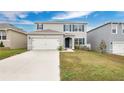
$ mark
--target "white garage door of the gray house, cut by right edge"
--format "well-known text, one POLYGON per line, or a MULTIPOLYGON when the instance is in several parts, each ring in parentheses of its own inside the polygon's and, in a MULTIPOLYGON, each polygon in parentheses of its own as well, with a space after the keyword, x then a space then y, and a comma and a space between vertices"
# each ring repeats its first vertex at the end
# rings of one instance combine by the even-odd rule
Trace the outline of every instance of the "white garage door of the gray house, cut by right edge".
POLYGON ((114 42, 113 43, 113 53, 124 54, 124 42, 114 42))

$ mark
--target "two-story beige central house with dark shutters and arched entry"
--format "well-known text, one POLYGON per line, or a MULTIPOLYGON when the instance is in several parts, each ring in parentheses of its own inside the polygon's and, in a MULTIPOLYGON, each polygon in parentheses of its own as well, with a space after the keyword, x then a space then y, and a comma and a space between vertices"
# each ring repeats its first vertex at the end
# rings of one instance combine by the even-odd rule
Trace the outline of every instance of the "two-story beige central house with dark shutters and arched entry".
POLYGON ((37 31, 28 33, 28 50, 74 49, 75 45, 87 45, 87 23, 37 22, 37 31))

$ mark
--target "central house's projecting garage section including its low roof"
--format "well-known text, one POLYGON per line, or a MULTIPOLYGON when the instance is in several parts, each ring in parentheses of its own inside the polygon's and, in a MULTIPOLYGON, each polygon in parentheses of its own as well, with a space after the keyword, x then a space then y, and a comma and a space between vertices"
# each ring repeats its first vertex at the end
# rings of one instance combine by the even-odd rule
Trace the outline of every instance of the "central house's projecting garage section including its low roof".
POLYGON ((27 39, 28 50, 57 50, 63 46, 63 33, 54 30, 29 32, 27 39))

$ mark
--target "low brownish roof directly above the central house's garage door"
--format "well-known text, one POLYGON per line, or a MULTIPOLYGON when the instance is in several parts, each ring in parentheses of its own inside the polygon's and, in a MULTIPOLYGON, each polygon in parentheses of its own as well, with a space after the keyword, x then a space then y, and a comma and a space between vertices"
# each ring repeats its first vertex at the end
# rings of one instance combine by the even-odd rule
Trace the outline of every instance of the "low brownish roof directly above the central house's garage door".
POLYGON ((47 30, 38 30, 38 31, 29 32, 28 34, 30 34, 30 35, 40 35, 40 34, 56 34, 56 35, 60 35, 60 34, 63 34, 63 32, 47 29, 47 30))

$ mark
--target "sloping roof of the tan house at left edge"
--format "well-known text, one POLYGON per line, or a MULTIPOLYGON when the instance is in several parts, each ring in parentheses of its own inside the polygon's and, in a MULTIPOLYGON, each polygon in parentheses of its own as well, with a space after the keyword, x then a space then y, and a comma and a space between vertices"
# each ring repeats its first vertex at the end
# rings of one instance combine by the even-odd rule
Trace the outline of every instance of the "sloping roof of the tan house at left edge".
POLYGON ((16 31, 16 32, 19 32, 19 33, 26 34, 25 31, 23 31, 22 29, 19 29, 19 28, 15 27, 12 24, 9 24, 9 23, 0 23, 0 30, 9 30, 9 29, 11 29, 13 31, 16 31))

